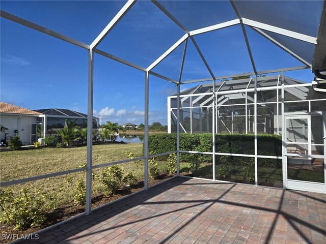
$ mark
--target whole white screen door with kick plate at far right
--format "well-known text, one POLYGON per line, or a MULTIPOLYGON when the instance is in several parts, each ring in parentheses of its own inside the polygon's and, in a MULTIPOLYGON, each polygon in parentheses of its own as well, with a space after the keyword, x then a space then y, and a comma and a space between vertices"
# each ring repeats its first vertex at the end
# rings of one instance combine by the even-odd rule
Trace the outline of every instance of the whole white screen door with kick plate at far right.
POLYGON ((285 125, 287 188, 326 193, 324 115, 288 115, 285 125))

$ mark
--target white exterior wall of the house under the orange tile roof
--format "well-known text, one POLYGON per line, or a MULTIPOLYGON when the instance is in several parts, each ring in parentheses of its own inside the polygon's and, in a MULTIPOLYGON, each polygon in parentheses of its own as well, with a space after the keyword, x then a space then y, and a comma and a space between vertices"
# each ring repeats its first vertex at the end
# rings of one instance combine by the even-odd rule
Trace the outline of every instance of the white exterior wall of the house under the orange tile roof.
MULTIPOLYGON (((15 130, 18 130, 18 136, 23 144, 32 144, 31 142, 31 124, 36 124, 37 116, 26 115, 7 115, 1 114, 1 125, 8 128, 8 136, 14 136, 15 130)), ((5 134, 1 133, 1 140, 5 139, 5 134)))

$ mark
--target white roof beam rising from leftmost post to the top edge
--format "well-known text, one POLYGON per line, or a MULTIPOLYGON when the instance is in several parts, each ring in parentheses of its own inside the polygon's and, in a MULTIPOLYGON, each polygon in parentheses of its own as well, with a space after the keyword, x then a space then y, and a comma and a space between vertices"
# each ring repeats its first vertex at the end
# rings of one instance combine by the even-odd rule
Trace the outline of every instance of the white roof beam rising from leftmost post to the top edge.
POLYGON ((123 7, 120 9, 120 11, 116 14, 116 16, 108 23, 103 31, 98 35, 95 40, 90 45, 92 49, 96 48, 101 41, 106 37, 108 33, 112 31, 114 26, 122 19, 122 17, 129 11, 129 9, 136 3, 135 0, 129 0, 123 7))

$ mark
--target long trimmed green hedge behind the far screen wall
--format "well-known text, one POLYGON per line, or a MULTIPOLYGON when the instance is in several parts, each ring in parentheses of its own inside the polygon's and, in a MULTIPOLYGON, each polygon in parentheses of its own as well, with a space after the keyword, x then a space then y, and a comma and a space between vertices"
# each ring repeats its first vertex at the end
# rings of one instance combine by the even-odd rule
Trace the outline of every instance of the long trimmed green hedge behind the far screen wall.
MULTIPOLYGON (((177 149, 176 134, 149 135, 149 151, 155 154, 174 151, 177 149)), ((255 154, 255 136, 244 134, 215 134, 216 153, 255 154)), ((257 135, 258 155, 281 156, 282 137, 280 135, 257 135)), ((212 134, 180 134, 180 150, 212 152, 212 134)), ((202 155, 203 156, 203 155, 202 155)), ((168 156, 162 156, 166 160, 168 156)), ((182 154, 180 161, 205 160, 195 154, 182 154)))

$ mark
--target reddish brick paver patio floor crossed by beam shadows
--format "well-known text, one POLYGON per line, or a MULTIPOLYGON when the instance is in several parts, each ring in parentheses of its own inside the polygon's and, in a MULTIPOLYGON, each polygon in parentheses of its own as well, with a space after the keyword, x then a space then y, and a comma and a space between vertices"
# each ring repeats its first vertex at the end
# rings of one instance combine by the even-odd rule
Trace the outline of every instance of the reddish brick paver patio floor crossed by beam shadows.
POLYGON ((326 243, 326 195, 177 177, 33 243, 326 243))

